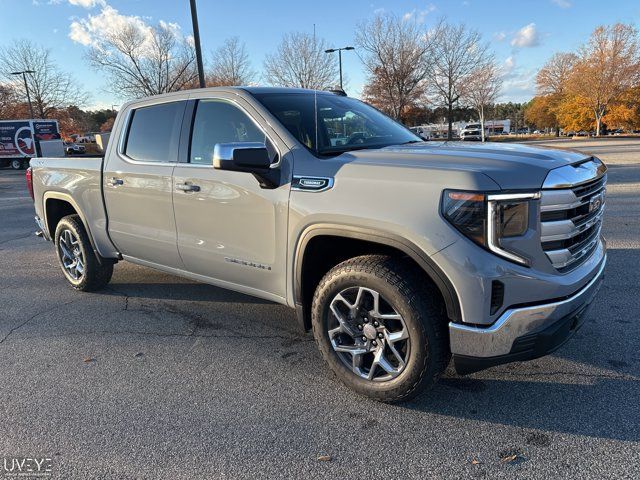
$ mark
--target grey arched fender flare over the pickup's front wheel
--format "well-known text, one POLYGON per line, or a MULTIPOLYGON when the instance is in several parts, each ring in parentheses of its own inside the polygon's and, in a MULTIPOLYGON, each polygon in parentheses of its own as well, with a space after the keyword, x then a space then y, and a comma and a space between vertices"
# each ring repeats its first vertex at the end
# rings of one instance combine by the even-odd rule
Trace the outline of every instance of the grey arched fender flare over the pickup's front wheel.
POLYGON ((375 230, 363 227, 354 227, 349 225, 322 223, 308 226, 298 237, 294 255, 294 282, 293 297, 298 314, 298 320, 301 325, 305 325, 303 312, 303 293, 302 293, 302 263, 304 253, 309 242, 320 235, 345 237, 356 240, 364 240, 372 243, 379 243, 388 247, 400 250, 405 255, 413 259, 422 270, 431 278, 433 283, 442 294, 447 309, 447 316, 453 322, 462 321, 462 313, 460 308, 460 300, 449 277, 436 265, 436 263, 417 245, 404 237, 394 233, 375 230))

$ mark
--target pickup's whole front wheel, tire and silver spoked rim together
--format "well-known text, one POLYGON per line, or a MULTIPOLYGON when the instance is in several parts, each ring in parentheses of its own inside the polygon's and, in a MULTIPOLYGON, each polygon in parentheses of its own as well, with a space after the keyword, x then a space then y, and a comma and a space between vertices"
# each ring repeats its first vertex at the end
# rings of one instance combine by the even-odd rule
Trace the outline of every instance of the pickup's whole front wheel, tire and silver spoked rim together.
POLYGON ((383 402, 407 400, 432 386, 449 363, 438 298, 406 260, 352 258, 318 285, 314 337, 347 386, 383 402))

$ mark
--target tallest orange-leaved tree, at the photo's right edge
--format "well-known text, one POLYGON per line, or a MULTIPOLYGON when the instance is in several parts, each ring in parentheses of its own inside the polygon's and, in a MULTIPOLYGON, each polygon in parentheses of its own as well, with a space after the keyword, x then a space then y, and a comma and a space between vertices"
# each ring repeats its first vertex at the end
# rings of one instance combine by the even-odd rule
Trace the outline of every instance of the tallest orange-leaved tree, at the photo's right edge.
POLYGON ((567 90, 588 107, 600 135, 608 108, 640 80, 640 43, 633 25, 598 27, 581 49, 567 90))

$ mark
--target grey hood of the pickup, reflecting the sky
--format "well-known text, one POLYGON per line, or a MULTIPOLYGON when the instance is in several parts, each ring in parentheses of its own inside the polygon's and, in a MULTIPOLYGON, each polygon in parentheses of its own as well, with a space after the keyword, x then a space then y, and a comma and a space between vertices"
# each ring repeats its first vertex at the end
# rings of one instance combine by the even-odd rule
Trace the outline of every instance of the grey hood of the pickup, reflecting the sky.
POLYGON ((344 154, 355 163, 479 172, 503 189, 540 188, 550 170, 587 155, 516 143, 423 142, 344 154))

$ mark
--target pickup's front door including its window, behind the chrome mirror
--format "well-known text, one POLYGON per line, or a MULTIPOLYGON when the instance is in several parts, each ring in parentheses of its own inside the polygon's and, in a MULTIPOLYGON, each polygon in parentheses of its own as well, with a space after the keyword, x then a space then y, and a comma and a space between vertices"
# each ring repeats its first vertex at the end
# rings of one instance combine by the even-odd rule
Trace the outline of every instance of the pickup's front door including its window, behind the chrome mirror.
POLYGON ((263 189, 249 173, 213 168, 217 143, 266 142, 277 160, 276 144, 247 108, 225 98, 197 101, 188 162, 173 176, 178 250, 190 272, 283 298, 289 182, 263 189))

